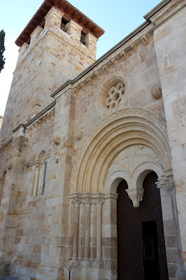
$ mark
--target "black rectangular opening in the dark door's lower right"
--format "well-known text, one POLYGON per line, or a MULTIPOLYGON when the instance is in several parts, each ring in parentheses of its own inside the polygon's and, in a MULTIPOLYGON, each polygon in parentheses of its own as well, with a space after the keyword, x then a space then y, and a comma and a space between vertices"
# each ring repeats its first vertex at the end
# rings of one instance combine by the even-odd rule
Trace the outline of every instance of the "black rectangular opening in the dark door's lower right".
POLYGON ((142 231, 145 280, 160 280, 156 221, 143 222, 142 231))

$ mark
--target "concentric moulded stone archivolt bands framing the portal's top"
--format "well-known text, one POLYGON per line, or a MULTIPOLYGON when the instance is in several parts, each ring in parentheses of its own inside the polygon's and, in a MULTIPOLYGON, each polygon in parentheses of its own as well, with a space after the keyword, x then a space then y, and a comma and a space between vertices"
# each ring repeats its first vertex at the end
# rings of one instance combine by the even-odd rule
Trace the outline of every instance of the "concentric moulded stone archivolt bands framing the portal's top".
POLYGON ((106 172, 115 156, 136 144, 152 148, 164 170, 171 168, 165 120, 148 109, 122 109, 103 119, 78 151, 71 174, 71 193, 103 193, 106 172))

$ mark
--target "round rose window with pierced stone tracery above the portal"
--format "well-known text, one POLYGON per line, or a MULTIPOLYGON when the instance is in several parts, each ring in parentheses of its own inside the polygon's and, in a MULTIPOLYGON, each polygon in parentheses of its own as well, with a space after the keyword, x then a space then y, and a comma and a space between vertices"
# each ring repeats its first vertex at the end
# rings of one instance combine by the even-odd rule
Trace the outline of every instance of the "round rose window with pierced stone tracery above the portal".
POLYGON ((124 95, 124 83, 115 83, 106 95, 106 107, 108 109, 115 108, 122 100, 124 95))

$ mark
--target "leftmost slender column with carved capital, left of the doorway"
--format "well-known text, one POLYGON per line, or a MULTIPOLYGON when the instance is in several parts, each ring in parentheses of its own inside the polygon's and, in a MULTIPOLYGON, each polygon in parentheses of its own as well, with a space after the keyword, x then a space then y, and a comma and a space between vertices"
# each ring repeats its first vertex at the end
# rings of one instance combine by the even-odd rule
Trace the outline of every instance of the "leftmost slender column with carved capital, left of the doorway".
POLYGON ((79 213, 81 200, 78 197, 72 200, 74 206, 73 216, 73 260, 78 259, 78 232, 79 232, 79 213))

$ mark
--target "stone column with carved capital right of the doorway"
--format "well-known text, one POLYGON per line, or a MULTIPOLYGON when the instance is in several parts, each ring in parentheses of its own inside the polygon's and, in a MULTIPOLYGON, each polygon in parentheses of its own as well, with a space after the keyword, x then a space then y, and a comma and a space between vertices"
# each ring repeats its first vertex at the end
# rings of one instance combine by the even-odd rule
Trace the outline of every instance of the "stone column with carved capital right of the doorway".
POLYGON ((164 172, 156 184, 161 194, 168 271, 169 274, 177 276, 184 269, 184 260, 176 205, 176 187, 172 171, 164 172))

